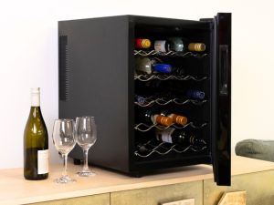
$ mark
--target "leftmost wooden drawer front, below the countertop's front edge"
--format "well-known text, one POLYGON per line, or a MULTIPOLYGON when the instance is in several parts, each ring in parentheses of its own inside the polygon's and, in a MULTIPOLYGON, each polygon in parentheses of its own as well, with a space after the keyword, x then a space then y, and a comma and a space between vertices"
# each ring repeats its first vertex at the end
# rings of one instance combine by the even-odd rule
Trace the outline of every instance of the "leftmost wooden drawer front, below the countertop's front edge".
POLYGON ((50 200, 31 205, 110 205, 110 193, 98 194, 87 197, 77 197, 65 200, 50 200))

